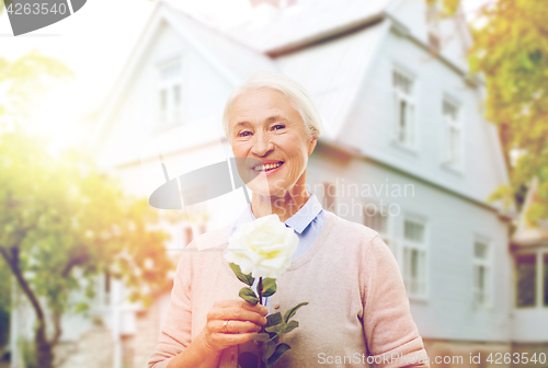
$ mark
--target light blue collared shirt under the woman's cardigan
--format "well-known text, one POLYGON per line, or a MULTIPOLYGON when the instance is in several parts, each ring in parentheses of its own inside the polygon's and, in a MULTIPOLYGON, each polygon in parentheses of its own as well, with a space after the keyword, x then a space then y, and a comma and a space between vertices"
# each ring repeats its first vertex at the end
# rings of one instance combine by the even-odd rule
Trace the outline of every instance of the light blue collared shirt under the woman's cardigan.
MULTIPOLYGON (((308 194, 310 194, 310 192, 308 192, 308 194)), ((256 220, 256 218, 251 210, 251 206, 246 207, 246 210, 240 215, 240 217, 236 220, 235 225, 230 229, 230 235, 232 235, 232 233, 237 231, 243 223, 248 223, 254 220, 256 220)), ((285 226, 292 228, 299 238, 299 244, 297 251, 293 255, 293 260, 302 255, 312 245, 312 243, 320 234, 321 228, 323 228, 324 222, 326 211, 321 207, 318 197, 313 194, 310 194, 310 198, 308 198, 305 205, 284 222, 285 226)), ((258 283, 259 279, 255 279, 255 284, 253 284, 253 289, 255 291, 258 283)), ((270 298, 265 298, 264 304, 269 307, 270 311, 270 298)))

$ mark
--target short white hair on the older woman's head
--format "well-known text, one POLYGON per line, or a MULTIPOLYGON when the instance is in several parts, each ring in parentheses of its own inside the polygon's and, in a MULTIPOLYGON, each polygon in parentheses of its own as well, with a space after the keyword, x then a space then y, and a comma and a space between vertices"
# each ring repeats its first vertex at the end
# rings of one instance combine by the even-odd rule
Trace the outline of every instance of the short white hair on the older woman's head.
POLYGON ((292 78, 273 71, 260 71, 254 73, 248 81, 232 90, 225 104, 222 112, 222 130, 228 137, 228 114, 235 101, 248 91, 267 88, 282 92, 293 104, 293 107, 300 114, 307 128, 309 137, 318 138, 323 131, 320 113, 316 107, 308 92, 292 78))

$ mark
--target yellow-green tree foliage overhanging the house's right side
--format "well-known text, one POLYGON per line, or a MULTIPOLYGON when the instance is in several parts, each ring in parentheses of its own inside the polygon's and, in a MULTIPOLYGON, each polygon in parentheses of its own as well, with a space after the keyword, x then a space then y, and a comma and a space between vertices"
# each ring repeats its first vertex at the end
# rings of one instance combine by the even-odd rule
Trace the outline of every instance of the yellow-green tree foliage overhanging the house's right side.
MULTIPOLYGON (((458 9, 458 0, 438 1, 446 14, 458 9)), ((535 222, 548 218, 548 7, 498 0, 477 16, 470 69, 486 78, 486 118, 498 126, 510 173, 510 184, 490 199, 521 206, 525 188, 538 177, 538 195, 527 214, 535 222)))

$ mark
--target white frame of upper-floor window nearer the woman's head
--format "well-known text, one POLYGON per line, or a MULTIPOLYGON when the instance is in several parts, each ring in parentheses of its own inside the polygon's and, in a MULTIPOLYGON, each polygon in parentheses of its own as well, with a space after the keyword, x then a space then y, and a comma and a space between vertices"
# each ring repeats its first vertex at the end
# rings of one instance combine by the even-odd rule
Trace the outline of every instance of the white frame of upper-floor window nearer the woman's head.
POLYGON ((414 149, 416 147, 416 103, 415 90, 416 78, 401 68, 392 68, 391 73, 392 91, 393 91, 393 140, 406 148, 414 149), (400 77, 409 81, 409 91, 400 88, 396 83, 396 78, 400 77), (404 112, 406 126, 401 127, 401 104, 404 103, 407 108, 404 112))

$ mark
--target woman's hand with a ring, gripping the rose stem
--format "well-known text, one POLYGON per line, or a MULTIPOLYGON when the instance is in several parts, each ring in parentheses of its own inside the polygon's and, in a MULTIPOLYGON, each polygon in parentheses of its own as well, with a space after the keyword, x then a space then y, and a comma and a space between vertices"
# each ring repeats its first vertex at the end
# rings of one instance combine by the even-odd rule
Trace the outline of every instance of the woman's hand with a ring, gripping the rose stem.
POLYGON ((207 323, 202 331, 204 343, 220 352, 231 345, 247 343, 266 324, 269 309, 244 300, 217 301, 207 313, 207 323))

